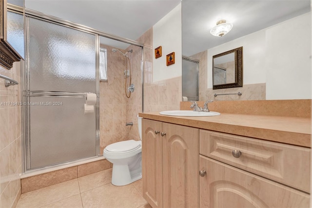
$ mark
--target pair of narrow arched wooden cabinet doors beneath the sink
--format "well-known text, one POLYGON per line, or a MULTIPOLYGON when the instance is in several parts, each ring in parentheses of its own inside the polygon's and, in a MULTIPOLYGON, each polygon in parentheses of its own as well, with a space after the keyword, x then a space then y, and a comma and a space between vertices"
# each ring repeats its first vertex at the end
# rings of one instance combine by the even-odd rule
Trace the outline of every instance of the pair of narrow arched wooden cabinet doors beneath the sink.
POLYGON ((198 207, 199 129, 142 120, 143 197, 153 208, 198 207))

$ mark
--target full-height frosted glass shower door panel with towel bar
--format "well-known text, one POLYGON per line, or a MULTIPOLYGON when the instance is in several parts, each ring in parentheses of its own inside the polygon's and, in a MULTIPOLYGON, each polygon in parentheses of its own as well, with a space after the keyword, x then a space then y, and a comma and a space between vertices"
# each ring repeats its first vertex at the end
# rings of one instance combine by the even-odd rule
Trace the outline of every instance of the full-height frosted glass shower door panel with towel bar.
POLYGON ((26 18, 26 170, 97 156, 97 116, 85 114, 96 85, 96 37, 26 18))

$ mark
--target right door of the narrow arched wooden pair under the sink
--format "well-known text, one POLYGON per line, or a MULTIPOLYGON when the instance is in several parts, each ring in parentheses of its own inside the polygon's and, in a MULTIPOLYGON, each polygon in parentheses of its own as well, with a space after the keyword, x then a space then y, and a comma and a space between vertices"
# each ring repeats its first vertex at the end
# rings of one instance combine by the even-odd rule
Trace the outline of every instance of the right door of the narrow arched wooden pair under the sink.
POLYGON ((199 129, 163 123, 164 208, 198 207, 199 129))

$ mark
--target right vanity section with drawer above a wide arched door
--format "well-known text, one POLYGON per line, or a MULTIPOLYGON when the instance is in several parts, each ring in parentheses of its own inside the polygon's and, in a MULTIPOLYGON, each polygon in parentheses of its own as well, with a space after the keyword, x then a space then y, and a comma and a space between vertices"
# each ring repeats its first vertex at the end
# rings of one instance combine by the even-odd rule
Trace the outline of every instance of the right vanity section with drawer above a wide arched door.
POLYGON ((308 208, 310 148, 199 132, 200 208, 308 208))

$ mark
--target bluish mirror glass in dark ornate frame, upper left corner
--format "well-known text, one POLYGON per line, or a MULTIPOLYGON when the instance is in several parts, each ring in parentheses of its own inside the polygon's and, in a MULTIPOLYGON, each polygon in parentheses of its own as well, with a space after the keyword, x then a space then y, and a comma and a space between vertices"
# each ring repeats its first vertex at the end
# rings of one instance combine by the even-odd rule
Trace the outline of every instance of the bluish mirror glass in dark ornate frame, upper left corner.
POLYGON ((7 41, 24 59, 24 16, 7 12, 7 41))

